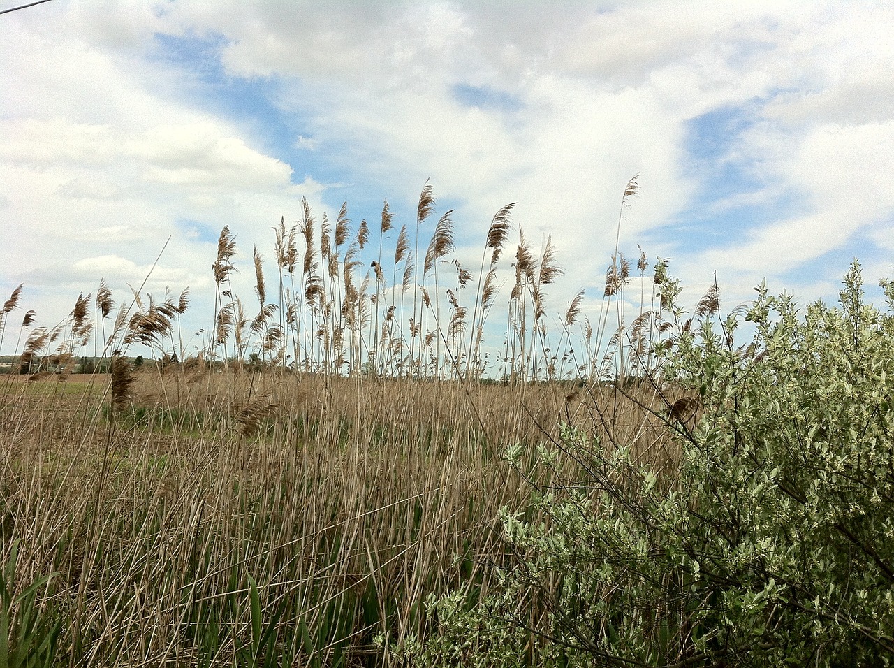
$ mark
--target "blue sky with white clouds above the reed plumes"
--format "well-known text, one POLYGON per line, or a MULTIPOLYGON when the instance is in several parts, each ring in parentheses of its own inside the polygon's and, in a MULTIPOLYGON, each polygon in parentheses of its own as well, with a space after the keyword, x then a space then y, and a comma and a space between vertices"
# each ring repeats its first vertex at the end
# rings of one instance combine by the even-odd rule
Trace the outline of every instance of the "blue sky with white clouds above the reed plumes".
POLYGON ((24 283, 17 314, 50 326, 100 279, 118 302, 144 281, 156 296, 189 287, 198 330, 224 225, 249 301, 253 246, 272 281, 271 228, 298 221, 302 198, 317 222, 346 201, 376 243, 387 199, 393 248, 428 182, 436 216, 454 209, 463 265, 477 267, 509 203, 505 280, 519 228, 536 251, 552 239, 564 274, 551 317, 581 289, 599 308, 616 242, 634 262, 640 247, 673 258, 690 300, 716 272, 724 310, 764 279, 834 301, 855 257, 881 303, 892 30, 894 4, 850 0, 53 0, 5 13, 0 298, 24 283))

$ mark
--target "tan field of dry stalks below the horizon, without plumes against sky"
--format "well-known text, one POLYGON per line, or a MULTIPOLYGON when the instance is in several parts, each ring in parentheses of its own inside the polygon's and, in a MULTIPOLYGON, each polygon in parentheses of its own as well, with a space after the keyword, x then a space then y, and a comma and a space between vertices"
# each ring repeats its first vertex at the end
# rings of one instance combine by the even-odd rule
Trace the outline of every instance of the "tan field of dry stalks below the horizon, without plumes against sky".
POLYGON ((109 376, 27 378, 0 378, 4 545, 16 579, 55 574, 41 606, 84 665, 387 663, 376 637, 512 557, 494 522, 532 488, 506 444, 571 420, 672 460, 601 385, 167 368, 111 410, 109 376))

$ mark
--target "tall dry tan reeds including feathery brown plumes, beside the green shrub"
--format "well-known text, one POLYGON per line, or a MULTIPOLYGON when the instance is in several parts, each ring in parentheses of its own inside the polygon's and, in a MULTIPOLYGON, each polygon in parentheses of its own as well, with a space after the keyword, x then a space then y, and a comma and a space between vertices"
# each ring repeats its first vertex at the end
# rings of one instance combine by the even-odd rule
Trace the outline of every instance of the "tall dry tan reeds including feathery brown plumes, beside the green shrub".
MULTIPOLYGON (((93 321, 81 294, 63 325, 31 330, 20 367, 34 380, 0 378, 0 557, 19 545, 20 590, 56 573, 37 605, 62 622, 58 655, 82 666, 387 664, 376 636, 424 631, 428 596, 460 584, 478 596, 491 565, 517 558, 494 530, 501 508, 531 512, 532 489, 581 475, 568 459, 520 478, 502 460, 507 445, 533 463, 566 422, 672 471, 668 421, 691 427, 697 406, 644 381, 679 317, 663 308, 672 299, 659 291, 676 286, 663 264, 650 297, 662 308, 647 309, 644 291, 628 330, 629 266, 616 251, 595 324, 578 322, 580 293, 550 339, 544 291, 561 269, 550 241, 537 257, 519 231, 503 352, 487 361, 512 206, 493 216, 476 285, 456 260, 449 281, 439 274, 451 212, 419 258, 434 213, 427 184, 415 243, 403 225, 386 268, 380 238, 366 276, 367 224, 351 238, 346 207, 332 227, 305 202, 300 225, 274 230, 273 301, 254 249, 254 317, 232 294, 224 228, 212 340, 184 364, 170 362, 188 291, 135 291, 106 336, 114 302, 100 283, 93 321), (610 311, 620 325, 605 341, 610 311), (99 331, 111 375, 74 375, 99 331), (131 368, 136 344, 164 364, 131 368)), ((0 341, 20 294, 4 303, 0 341)))

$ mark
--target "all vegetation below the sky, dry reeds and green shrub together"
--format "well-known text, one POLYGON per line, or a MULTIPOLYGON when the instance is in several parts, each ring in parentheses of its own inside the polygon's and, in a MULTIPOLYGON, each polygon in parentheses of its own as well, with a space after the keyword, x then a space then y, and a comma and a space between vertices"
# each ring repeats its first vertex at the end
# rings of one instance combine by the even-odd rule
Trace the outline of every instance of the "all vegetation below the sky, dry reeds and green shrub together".
POLYGON ((450 212, 415 259, 428 186, 390 272, 305 205, 250 318, 224 228, 193 356, 186 291, 34 328, 0 380, 0 666, 890 663, 894 287, 866 305, 855 263, 839 308, 689 317, 616 250, 550 332, 549 241, 493 314, 510 210, 476 277, 450 212), (73 376, 94 340, 108 373, 73 376))

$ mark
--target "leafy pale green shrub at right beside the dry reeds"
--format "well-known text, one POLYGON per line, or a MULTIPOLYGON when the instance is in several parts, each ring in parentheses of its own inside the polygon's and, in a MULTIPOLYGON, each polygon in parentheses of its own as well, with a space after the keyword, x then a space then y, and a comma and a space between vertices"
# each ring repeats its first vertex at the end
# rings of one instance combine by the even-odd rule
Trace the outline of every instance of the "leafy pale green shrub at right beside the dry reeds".
MULTIPOLYGON (((702 418, 667 424, 677 469, 566 427, 538 453, 558 483, 524 517, 500 518, 515 555, 500 586, 474 605, 462 592, 430 601, 428 638, 394 654, 428 666, 894 663, 883 287, 885 313, 864 302, 855 262, 837 308, 802 315, 762 286, 750 309, 680 334, 662 382, 697 393, 702 418), (737 349, 740 317, 755 334, 737 349)), ((522 455, 507 452, 519 468, 522 455)))

